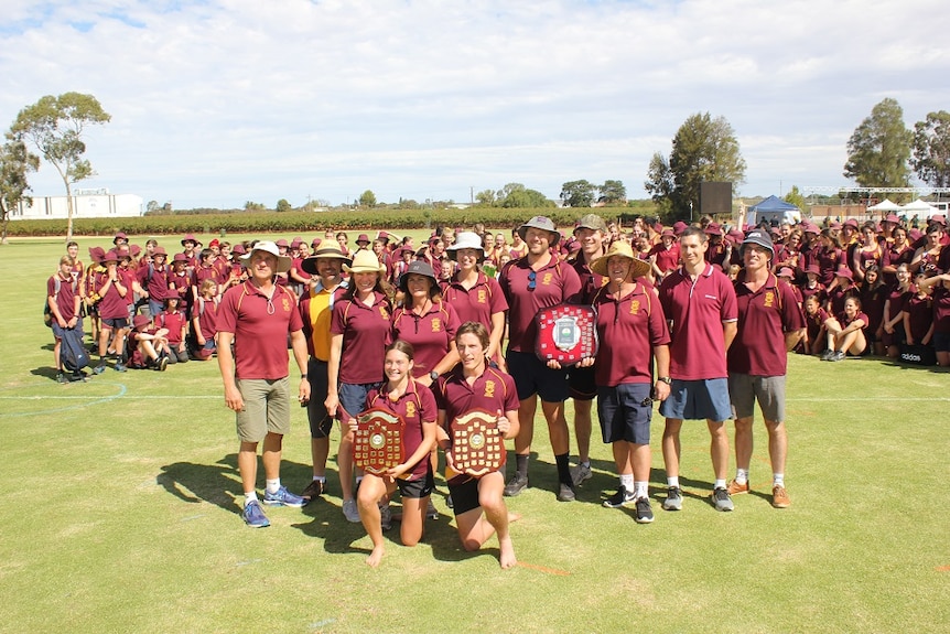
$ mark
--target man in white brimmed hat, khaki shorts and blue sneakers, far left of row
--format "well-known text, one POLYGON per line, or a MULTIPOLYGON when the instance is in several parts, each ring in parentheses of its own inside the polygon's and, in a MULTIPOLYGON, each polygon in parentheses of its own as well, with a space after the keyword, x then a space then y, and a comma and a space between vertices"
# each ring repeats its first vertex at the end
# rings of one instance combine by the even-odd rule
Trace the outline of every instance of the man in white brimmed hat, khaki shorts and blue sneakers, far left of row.
POLYGON ((242 260, 249 279, 228 289, 217 311, 218 366, 225 402, 237 412, 238 470, 245 495, 242 517, 248 526, 262 528, 270 522, 255 491, 257 445, 261 441, 267 479, 263 503, 301 507, 309 502, 280 483, 283 437, 290 431, 288 333, 301 374, 298 388, 301 402, 310 399, 310 382, 306 378, 306 339, 296 297, 274 283, 276 275, 290 269, 291 258, 281 256, 276 244, 260 241, 242 260))

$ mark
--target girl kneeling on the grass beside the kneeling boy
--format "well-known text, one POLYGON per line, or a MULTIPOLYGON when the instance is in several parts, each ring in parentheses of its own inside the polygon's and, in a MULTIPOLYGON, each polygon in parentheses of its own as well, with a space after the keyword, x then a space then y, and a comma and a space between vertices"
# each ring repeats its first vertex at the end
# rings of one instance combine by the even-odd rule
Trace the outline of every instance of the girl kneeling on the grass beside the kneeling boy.
MULTIPOLYGON (((399 487, 402 516, 399 537, 403 546, 415 546, 422 539, 429 496, 435 488, 429 460, 435 447, 435 397, 412 377, 412 345, 397 340, 386 346, 384 374, 386 383, 366 397, 366 409, 378 407, 402 418, 402 443, 406 459, 381 475, 366 472, 357 491, 359 519, 373 540, 373 552, 366 563, 376 568, 385 554, 382 531, 391 522, 389 496, 399 487)), ((355 418, 348 421, 356 433, 355 418)))

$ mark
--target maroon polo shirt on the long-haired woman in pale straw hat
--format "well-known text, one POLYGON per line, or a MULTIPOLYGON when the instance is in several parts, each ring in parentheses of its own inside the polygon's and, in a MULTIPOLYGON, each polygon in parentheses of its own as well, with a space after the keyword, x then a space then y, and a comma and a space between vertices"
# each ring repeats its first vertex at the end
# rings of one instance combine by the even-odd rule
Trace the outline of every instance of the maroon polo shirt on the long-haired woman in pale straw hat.
POLYGON ((333 304, 332 335, 343 335, 339 383, 365 385, 382 380, 384 348, 391 340, 389 300, 374 292, 373 305, 356 299, 333 304))

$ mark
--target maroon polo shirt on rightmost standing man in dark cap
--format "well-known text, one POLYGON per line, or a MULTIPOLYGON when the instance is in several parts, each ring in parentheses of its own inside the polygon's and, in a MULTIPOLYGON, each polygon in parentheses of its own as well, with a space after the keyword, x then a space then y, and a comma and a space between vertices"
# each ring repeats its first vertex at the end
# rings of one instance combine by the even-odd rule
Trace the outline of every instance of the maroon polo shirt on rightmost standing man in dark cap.
POLYGON ((738 332, 728 348, 731 373, 754 376, 784 376, 788 372, 785 333, 805 327, 791 287, 775 275, 757 291, 735 283, 738 332))

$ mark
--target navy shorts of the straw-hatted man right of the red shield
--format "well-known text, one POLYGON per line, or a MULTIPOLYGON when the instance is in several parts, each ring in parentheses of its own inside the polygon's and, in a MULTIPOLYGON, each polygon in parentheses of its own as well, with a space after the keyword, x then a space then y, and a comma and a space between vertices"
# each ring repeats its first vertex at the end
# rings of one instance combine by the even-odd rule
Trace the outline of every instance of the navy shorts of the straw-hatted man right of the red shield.
POLYGON ((622 383, 616 387, 597 388, 597 415, 604 442, 650 443, 654 416, 650 387, 648 383, 622 383))

